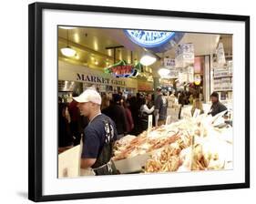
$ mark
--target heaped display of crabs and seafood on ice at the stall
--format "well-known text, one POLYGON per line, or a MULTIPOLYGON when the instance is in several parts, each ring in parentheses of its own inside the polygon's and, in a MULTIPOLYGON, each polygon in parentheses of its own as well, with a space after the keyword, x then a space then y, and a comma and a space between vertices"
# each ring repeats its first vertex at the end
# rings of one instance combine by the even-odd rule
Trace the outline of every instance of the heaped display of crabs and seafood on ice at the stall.
POLYGON ((122 138, 113 160, 121 173, 230 169, 232 128, 220 126, 222 115, 190 117, 122 138))

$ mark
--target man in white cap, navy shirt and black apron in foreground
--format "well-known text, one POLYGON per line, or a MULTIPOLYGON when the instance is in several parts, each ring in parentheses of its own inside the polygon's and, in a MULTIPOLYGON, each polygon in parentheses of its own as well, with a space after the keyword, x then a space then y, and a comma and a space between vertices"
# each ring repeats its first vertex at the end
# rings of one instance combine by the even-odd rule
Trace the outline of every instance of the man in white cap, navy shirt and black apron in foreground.
POLYGON ((88 88, 80 96, 73 97, 81 115, 88 117, 84 130, 81 168, 92 168, 96 175, 116 174, 112 148, 117 140, 115 123, 100 112, 101 97, 95 89, 88 88))

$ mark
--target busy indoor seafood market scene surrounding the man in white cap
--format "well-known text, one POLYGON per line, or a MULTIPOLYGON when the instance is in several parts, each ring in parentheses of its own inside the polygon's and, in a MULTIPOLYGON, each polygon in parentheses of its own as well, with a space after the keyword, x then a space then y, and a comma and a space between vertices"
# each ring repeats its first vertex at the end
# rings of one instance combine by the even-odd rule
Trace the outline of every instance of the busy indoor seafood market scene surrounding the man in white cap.
POLYGON ((102 113, 126 123, 111 159, 120 173, 232 168, 232 35, 59 26, 57 36, 59 178, 91 175, 80 168, 89 121, 73 100, 91 87, 102 113), (214 97, 226 108, 209 114, 214 97))

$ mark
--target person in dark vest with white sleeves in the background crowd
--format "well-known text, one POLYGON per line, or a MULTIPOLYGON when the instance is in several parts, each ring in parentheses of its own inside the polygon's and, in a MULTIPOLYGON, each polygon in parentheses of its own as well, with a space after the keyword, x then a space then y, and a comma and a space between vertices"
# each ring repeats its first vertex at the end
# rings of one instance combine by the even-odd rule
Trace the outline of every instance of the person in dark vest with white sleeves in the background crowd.
POLYGON ((142 105, 140 107, 140 123, 141 123, 141 132, 148 128, 148 116, 152 115, 154 112, 154 106, 151 106, 151 102, 147 101, 146 98, 142 99, 142 105), (148 103, 147 103, 148 102, 148 103))

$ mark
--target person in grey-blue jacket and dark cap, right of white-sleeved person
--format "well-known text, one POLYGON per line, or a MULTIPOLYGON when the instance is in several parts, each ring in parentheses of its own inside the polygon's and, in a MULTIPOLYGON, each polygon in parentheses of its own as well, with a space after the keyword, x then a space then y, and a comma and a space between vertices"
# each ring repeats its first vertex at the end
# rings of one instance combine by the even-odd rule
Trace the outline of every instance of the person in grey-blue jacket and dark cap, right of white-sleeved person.
POLYGON ((158 87, 157 97, 155 101, 155 111, 154 111, 156 126, 161 126, 165 124, 165 120, 167 117, 167 107, 168 107, 167 98, 163 96, 161 92, 161 87, 158 87))

